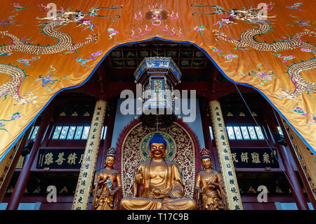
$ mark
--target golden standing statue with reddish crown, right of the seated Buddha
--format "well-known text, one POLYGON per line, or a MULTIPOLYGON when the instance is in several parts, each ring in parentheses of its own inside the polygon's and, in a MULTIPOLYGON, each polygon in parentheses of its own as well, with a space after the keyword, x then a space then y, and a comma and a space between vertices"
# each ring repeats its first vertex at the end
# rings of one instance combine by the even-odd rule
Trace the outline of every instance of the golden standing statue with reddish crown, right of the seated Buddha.
POLYGON ((201 202, 202 210, 225 209, 227 206, 225 206, 223 178, 218 171, 212 169, 208 150, 204 148, 200 153, 204 169, 197 173, 197 181, 195 182, 197 202, 201 202))

